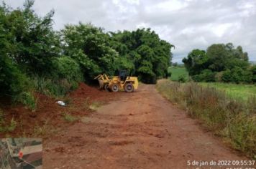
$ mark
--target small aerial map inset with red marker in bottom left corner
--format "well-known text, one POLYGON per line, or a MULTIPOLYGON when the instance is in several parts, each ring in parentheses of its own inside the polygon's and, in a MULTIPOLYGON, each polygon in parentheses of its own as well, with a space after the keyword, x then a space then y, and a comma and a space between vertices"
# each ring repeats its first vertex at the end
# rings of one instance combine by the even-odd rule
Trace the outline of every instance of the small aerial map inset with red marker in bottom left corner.
POLYGON ((0 139, 0 168, 40 169, 42 168, 41 138, 0 139))

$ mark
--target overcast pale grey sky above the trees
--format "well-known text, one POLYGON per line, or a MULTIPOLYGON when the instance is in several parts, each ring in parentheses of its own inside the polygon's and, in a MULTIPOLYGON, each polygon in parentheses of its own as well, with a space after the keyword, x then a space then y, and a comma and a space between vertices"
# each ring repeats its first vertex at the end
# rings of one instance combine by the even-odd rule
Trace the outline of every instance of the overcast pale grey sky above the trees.
MULTIPOLYGON (((5 2, 17 8, 24 0, 5 2)), ((256 61, 256 0, 35 0, 34 9, 40 16, 54 9, 56 30, 78 21, 106 31, 150 27, 175 45, 173 62, 192 49, 228 42, 256 61)))

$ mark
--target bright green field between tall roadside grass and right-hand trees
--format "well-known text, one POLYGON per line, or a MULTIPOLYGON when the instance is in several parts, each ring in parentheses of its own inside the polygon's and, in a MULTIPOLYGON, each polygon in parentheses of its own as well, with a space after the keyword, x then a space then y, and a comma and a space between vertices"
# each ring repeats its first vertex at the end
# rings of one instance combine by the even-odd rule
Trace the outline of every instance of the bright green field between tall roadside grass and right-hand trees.
POLYGON ((217 90, 221 90, 227 93, 229 97, 248 100, 250 97, 256 97, 256 85, 255 84, 229 84, 221 82, 200 82, 204 87, 215 87, 217 90))

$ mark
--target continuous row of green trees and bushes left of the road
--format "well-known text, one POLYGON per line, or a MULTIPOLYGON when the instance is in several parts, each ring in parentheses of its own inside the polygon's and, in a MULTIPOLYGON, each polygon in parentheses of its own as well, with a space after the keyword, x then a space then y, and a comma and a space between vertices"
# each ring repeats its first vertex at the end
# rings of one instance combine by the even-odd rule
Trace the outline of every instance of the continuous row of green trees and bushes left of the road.
POLYGON ((100 73, 126 69, 142 82, 168 75, 172 44, 150 29, 104 32, 91 24, 52 29, 50 11, 40 17, 27 0, 24 7, 0 5, 0 96, 17 100, 33 91, 64 95, 100 73))

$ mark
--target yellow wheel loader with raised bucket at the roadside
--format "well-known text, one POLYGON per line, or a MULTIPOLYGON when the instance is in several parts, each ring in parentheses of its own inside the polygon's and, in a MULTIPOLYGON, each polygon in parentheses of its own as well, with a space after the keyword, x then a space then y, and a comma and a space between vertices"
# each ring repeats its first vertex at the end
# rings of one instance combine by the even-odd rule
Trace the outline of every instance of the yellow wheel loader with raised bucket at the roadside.
POLYGON ((105 89, 111 92, 118 92, 120 90, 134 92, 139 85, 138 78, 127 76, 125 70, 120 71, 119 76, 109 77, 106 74, 99 74, 94 79, 98 79, 100 89, 105 89))

